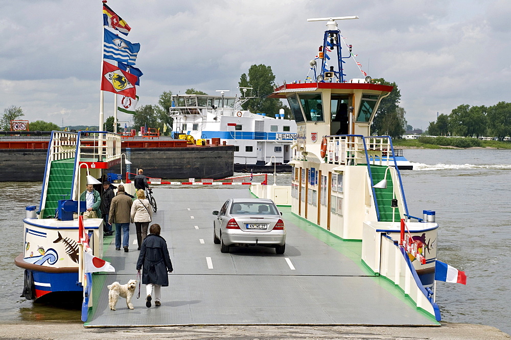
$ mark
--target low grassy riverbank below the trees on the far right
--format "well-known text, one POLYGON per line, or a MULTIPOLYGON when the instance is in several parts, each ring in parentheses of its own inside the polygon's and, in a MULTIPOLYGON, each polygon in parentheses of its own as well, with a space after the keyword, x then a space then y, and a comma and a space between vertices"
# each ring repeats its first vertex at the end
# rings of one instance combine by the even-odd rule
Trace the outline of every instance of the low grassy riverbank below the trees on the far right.
MULTIPOLYGON (((397 148, 418 148, 418 149, 466 149, 466 148, 489 148, 489 149, 511 149, 511 142, 500 142, 500 141, 481 141, 477 140, 475 144, 466 144, 466 147, 459 147, 449 144, 449 140, 454 141, 455 139, 442 138, 440 143, 437 141, 438 138, 420 138, 420 139, 393 139, 392 144, 397 148), (447 140, 447 142, 446 142, 447 140), (427 143, 424 143, 427 142, 427 143)), ((466 140, 463 138, 462 140, 466 140)))

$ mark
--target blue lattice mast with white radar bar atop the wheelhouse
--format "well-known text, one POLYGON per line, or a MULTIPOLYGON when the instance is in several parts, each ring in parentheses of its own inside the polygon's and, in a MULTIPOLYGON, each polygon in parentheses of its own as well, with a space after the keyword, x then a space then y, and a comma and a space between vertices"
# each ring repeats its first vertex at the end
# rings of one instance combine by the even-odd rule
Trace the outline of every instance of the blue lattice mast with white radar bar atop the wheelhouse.
MULTIPOLYGON (((316 76, 317 82, 324 82, 324 80, 331 80, 336 77, 341 83, 344 83, 344 76, 346 74, 343 73, 342 64, 345 63, 343 59, 351 58, 351 47, 349 51, 349 56, 342 57, 342 46, 341 46, 341 31, 337 28, 337 22, 335 20, 347 20, 347 19, 358 19, 357 15, 355 16, 338 16, 338 17, 330 17, 330 18, 311 18, 307 19, 307 21, 328 21, 327 22, 327 31, 324 31, 323 45, 319 47, 318 57, 321 59, 321 68, 319 74, 316 76), (324 58, 324 54, 326 51, 333 51, 334 48, 337 47, 337 71, 334 70, 334 66, 330 66, 330 69, 327 69, 326 61, 324 58), (328 48, 328 49, 327 49, 328 48)), ((351 45, 350 45, 351 46, 351 45)), ((316 65, 311 66, 315 67, 316 65)), ((314 71, 315 72, 315 71, 314 71)))

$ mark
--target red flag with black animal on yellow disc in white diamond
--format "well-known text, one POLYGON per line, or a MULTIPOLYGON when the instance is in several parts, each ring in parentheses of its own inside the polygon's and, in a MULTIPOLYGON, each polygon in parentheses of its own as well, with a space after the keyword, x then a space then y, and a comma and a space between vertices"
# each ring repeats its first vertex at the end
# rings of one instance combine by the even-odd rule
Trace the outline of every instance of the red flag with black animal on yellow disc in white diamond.
POLYGON ((138 77, 121 70, 110 63, 103 62, 103 76, 101 77, 101 90, 123 94, 136 99, 135 83, 138 77))

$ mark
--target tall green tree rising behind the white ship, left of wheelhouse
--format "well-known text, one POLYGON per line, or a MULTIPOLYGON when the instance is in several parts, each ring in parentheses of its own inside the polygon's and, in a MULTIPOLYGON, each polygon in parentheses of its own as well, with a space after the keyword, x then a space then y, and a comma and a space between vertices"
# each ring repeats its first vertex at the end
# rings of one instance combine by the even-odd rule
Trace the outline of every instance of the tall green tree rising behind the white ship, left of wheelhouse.
POLYGON ((243 105, 243 110, 249 110, 252 113, 266 113, 269 116, 278 113, 281 108, 278 98, 267 98, 273 93, 275 75, 270 66, 263 64, 252 65, 247 74, 243 73, 238 83, 240 87, 251 87, 252 93, 257 98, 247 100, 243 105))

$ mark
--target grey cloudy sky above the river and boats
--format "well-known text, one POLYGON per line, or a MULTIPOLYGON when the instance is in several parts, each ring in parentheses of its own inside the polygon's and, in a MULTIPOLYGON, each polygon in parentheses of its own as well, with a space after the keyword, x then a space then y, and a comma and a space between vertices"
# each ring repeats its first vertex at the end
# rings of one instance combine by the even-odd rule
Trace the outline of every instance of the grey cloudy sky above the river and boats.
MULTIPOLYGON (((324 22, 339 21, 357 61, 373 78, 396 82, 406 119, 426 129, 459 104, 510 101, 508 0, 109 0, 141 44, 139 105, 163 91, 235 94, 250 65, 271 66, 275 82, 303 80, 322 44, 324 22)), ((102 57, 101 0, 0 0, 0 113, 19 106, 29 121, 97 125, 102 57)), ((349 63, 351 64, 351 63, 349 63)), ((347 77, 361 77, 351 64, 347 77)), ((105 94, 105 118, 113 94, 105 94)), ((120 113, 119 120, 131 116, 120 113)))

